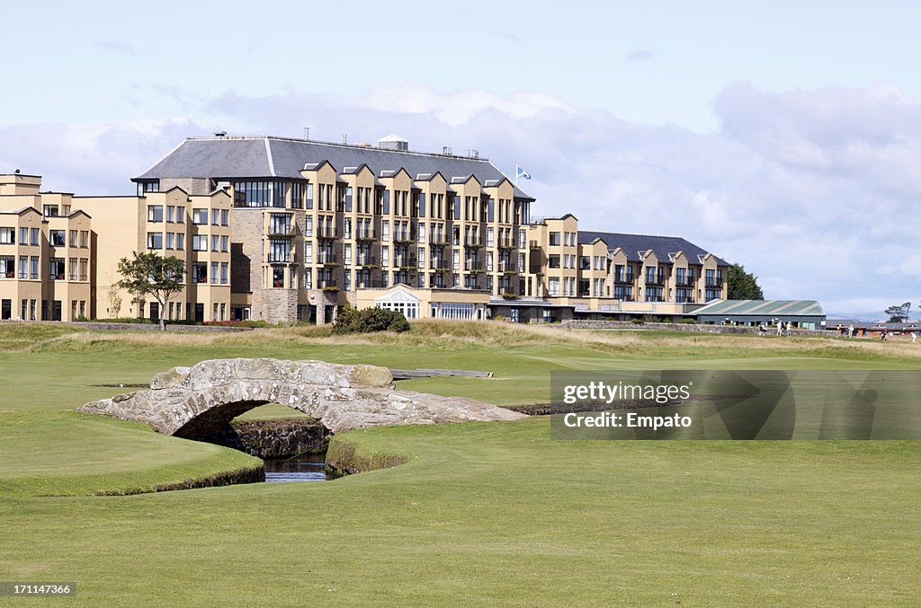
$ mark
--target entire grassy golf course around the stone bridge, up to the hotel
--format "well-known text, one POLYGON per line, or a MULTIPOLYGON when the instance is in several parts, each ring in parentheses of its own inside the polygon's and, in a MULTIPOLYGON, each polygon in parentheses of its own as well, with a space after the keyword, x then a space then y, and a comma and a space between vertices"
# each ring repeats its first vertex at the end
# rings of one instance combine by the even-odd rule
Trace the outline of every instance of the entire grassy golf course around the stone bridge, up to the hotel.
POLYGON ((532 418, 347 433, 335 442, 408 462, 330 483, 98 497, 252 459, 67 411, 130 390, 99 384, 212 358, 482 370, 494 377, 401 386, 533 404, 553 370, 921 369, 907 344, 491 323, 338 341, 315 328, 25 324, 0 326, 0 344, 0 579, 76 582, 60 603, 912 605, 921 593, 918 442, 564 442, 532 418))

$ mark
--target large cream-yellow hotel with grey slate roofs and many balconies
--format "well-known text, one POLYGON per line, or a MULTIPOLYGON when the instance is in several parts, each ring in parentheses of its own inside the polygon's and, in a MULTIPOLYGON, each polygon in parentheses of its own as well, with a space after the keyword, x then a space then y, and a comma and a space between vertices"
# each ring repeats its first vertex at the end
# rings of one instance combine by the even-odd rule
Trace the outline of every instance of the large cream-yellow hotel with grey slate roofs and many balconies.
POLYGON ((331 322, 339 306, 528 323, 694 316, 727 262, 679 237, 533 218, 475 153, 279 137, 190 138, 124 197, 41 192, 0 175, 0 317, 331 322), (117 287, 134 251, 181 258, 160 310, 117 287))

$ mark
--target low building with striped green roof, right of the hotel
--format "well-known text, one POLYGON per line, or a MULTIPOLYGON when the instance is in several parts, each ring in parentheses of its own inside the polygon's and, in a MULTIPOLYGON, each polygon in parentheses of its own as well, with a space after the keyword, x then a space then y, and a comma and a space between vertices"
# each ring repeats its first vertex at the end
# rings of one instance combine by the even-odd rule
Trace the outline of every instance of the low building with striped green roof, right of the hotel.
POLYGON ((707 325, 757 326, 792 323, 803 329, 823 329, 825 311, 815 300, 720 300, 698 308, 697 321, 707 325))

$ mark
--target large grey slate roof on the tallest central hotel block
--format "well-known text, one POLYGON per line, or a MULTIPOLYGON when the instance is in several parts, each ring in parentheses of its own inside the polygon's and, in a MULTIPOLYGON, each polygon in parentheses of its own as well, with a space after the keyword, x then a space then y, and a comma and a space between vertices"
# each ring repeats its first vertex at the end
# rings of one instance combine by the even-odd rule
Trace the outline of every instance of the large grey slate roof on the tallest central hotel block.
MULTIPOLYGON (((402 152, 344 143, 309 142, 279 137, 202 137, 182 142, 135 181, 160 178, 292 178, 301 179, 305 165, 329 161, 337 171, 367 165, 376 176, 401 167, 411 176, 436 172, 449 182, 473 176, 484 184, 506 176, 488 160, 402 152)), ((533 197, 515 188, 515 197, 533 197)))

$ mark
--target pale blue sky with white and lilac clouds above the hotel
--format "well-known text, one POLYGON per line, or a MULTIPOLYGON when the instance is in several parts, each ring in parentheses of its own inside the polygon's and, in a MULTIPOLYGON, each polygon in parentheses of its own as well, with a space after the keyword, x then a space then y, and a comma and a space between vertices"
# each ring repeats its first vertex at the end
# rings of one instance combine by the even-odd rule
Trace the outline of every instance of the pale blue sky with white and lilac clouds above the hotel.
POLYGON ((918 23, 879 1, 20 3, 0 173, 130 194, 188 136, 396 132, 524 166, 535 215, 682 235, 768 298, 917 310, 918 23))

